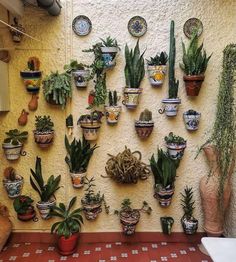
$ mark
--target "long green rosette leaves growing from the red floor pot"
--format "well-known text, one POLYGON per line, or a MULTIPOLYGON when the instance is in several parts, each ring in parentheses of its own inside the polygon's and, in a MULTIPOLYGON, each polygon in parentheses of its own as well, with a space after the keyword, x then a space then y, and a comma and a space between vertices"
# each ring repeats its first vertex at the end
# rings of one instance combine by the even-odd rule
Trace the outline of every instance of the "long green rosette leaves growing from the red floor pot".
POLYGON ((83 224, 83 217, 80 215, 82 208, 71 210, 76 202, 76 197, 70 200, 69 205, 60 203, 54 206, 49 213, 50 217, 58 217, 61 221, 54 223, 51 227, 51 233, 57 233, 59 236, 69 238, 72 234, 78 233, 83 224))

